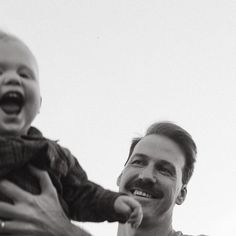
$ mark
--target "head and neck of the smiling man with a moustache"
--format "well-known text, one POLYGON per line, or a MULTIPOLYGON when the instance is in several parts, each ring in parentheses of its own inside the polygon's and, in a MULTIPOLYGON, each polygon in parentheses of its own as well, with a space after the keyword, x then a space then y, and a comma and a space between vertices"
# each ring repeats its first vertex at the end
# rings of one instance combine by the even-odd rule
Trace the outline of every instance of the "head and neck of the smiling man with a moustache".
POLYGON ((117 184, 141 203, 143 221, 136 230, 119 224, 118 236, 183 235, 172 228, 172 214, 185 200, 196 154, 190 134, 170 122, 155 123, 133 140, 117 184))

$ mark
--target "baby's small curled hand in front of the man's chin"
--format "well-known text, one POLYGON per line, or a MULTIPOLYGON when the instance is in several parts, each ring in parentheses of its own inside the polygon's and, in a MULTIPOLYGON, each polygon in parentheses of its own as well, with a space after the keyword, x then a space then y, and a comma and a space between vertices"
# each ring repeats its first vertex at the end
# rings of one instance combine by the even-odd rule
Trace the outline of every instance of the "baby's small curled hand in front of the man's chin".
POLYGON ((114 208, 117 213, 128 216, 127 223, 132 227, 138 228, 143 219, 143 211, 139 202, 129 196, 119 196, 114 203, 114 208))

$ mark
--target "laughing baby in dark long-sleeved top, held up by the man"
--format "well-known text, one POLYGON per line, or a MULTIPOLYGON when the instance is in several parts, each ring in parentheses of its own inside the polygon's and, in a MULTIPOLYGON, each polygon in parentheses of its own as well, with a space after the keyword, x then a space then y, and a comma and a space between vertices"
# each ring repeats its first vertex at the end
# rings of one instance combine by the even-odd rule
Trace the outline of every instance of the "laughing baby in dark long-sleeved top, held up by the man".
MULTIPOLYGON (((0 31, 0 179, 33 194, 40 193, 28 166, 47 170, 63 210, 76 221, 119 221, 138 227, 140 204, 122 193, 88 180, 77 159, 56 141, 31 127, 41 106, 38 66, 29 48, 0 31)), ((13 203, 0 195, 0 201, 13 203)))

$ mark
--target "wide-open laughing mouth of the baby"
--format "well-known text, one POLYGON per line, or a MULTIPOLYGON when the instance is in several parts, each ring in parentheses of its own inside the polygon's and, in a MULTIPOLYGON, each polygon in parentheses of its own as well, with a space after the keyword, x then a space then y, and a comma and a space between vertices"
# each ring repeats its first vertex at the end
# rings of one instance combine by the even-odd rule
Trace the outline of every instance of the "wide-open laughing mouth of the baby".
POLYGON ((0 98, 0 107, 8 115, 17 115, 24 105, 24 97, 21 93, 11 91, 0 98))

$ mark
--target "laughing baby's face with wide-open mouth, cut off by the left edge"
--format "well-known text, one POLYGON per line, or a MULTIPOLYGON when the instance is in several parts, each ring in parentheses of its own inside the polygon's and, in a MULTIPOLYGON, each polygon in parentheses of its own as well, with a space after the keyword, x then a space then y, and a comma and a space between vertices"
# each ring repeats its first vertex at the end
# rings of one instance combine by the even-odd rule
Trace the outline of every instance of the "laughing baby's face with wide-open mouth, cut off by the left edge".
POLYGON ((0 135, 26 134, 40 104, 34 56, 21 42, 0 40, 0 135))

